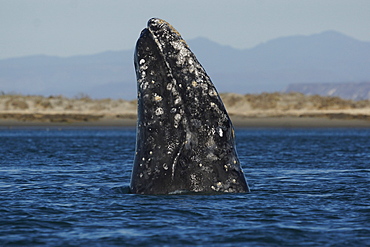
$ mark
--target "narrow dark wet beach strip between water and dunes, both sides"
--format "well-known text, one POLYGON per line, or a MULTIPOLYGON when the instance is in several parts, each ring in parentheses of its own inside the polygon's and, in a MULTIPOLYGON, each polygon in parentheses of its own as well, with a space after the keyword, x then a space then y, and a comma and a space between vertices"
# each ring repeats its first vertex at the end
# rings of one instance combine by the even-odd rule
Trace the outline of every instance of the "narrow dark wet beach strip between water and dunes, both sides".
MULTIPOLYGON (((0 129, 15 128, 136 128, 136 118, 102 117, 81 121, 22 121, 0 119, 0 129)), ((366 119, 330 119, 325 117, 244 117, 231 116, 235 128, 370 128, 366 119)))

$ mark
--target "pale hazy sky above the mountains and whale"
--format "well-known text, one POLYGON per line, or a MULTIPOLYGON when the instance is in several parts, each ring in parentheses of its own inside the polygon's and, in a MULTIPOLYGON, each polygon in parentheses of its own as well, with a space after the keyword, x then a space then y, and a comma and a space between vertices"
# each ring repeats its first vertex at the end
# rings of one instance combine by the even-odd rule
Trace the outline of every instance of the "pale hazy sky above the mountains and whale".
POLYGON ((369 0, 0 0, 0 59, 132 49, 151 17, 235 48, 325 30, 370 41, 369 0))

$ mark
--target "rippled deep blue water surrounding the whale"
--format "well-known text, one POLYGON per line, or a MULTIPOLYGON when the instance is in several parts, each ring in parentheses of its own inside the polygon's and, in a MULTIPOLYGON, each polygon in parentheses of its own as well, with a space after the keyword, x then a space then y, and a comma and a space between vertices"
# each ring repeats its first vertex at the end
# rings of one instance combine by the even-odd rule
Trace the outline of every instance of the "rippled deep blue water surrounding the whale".
POLYGON ((237 129, 248 194, 128 193, 135 129, 0 129, 0 246, 370 246, 370 129, 237 129))

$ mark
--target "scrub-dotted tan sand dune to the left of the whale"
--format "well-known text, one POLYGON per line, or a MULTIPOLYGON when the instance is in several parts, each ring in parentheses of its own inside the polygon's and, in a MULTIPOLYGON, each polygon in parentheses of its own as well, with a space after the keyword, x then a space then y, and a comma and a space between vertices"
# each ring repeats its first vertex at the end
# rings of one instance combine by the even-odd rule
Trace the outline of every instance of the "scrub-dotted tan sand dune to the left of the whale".
POLYGON ((136 118, 136 101, 99 99, 87 96, 1 95, 0 119, 41 122, 86 122, 100 118, 136 118))

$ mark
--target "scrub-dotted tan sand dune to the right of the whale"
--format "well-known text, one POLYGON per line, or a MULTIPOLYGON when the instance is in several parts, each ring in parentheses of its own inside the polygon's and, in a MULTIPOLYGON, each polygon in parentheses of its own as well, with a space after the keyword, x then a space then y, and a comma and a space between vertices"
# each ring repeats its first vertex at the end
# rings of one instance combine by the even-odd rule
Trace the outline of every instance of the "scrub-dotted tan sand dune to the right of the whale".
POLYGON ((246 117, 316 116, 348 118, 369 117, 370 101, 338 97, 307 96, 301 93, 222 94, 230 115, 246 117))

